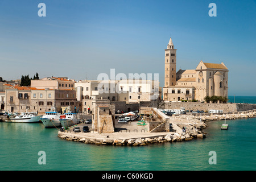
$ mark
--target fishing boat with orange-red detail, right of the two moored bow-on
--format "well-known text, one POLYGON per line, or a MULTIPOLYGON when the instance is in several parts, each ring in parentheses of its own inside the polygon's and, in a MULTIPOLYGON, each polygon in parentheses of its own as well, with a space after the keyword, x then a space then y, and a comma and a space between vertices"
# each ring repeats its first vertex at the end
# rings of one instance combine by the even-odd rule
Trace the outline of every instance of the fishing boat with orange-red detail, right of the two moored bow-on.
MULTIPOLYGON (((65 109, 66 110, 66 109, 65 109)), ((67 113, 65 113, 63 115, 60 115, 60 123, 61 126, 63 127, 71 127, 73 125, 77 125, 79 123, 79 119, 77 118, 77 114, 73 113, 70 109, 70 107, 68 107, 68 111, 67 113)))

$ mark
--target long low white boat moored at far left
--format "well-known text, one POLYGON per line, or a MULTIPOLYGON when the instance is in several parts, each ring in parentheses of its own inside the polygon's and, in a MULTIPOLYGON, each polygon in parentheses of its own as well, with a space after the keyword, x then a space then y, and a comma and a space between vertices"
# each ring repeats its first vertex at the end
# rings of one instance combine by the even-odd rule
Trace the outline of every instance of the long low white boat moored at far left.
POLYGON ((41 116, 36 113, 21 113, 10 119, 6 122, 16 122, 16 123, 37 123, 40 121, 41 116))

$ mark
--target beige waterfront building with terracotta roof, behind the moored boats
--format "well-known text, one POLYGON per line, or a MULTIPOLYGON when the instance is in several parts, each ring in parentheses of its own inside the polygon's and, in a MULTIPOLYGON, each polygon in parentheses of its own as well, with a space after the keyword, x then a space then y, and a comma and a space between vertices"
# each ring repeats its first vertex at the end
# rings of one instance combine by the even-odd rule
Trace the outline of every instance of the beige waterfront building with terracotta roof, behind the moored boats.
MULTIPOLYGON (((27 86, 13 86, 5 90, 6 110, 12 113, 38 112, 44 114, 55 106, 61 111, 68 106, 72 110, 80 109, 81 104, 76 100, 73 89, 36 89, 27 86)), ((64 110, 63 110, 64 111, 64 110)))

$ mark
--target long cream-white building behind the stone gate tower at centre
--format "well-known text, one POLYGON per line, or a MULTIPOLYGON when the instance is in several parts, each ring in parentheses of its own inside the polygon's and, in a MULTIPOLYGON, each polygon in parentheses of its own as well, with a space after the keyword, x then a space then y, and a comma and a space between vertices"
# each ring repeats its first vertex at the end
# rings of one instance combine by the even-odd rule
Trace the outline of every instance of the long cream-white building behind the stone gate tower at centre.
POLYGON ((152 80, 82 80, 75 83, 77 101, 84 113, 92 111, 90 100, 125 101, 126 104, 160 98, 159 82, 152 80))

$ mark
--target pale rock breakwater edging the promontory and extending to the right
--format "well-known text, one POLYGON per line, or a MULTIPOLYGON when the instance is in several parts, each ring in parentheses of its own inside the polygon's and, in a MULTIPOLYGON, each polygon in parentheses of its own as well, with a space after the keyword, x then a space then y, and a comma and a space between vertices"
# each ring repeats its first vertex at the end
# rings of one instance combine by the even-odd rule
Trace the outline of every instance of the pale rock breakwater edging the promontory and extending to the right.
POLYGON ((147 144, 163 142, 180 142, 197 138, 205 138, 204 129, 207 121, 222 119, 241 119, 256 117, 256 110, 243 111, 236 114, 210 114, 210 115, 179 115, 170 117, 172 131, 160 133, 113 133, 108 135, 94 133, 72 133, 72 131, 59 131, 58 137, 74 142, 97 145, 114 146, 145 146, 147 144))

